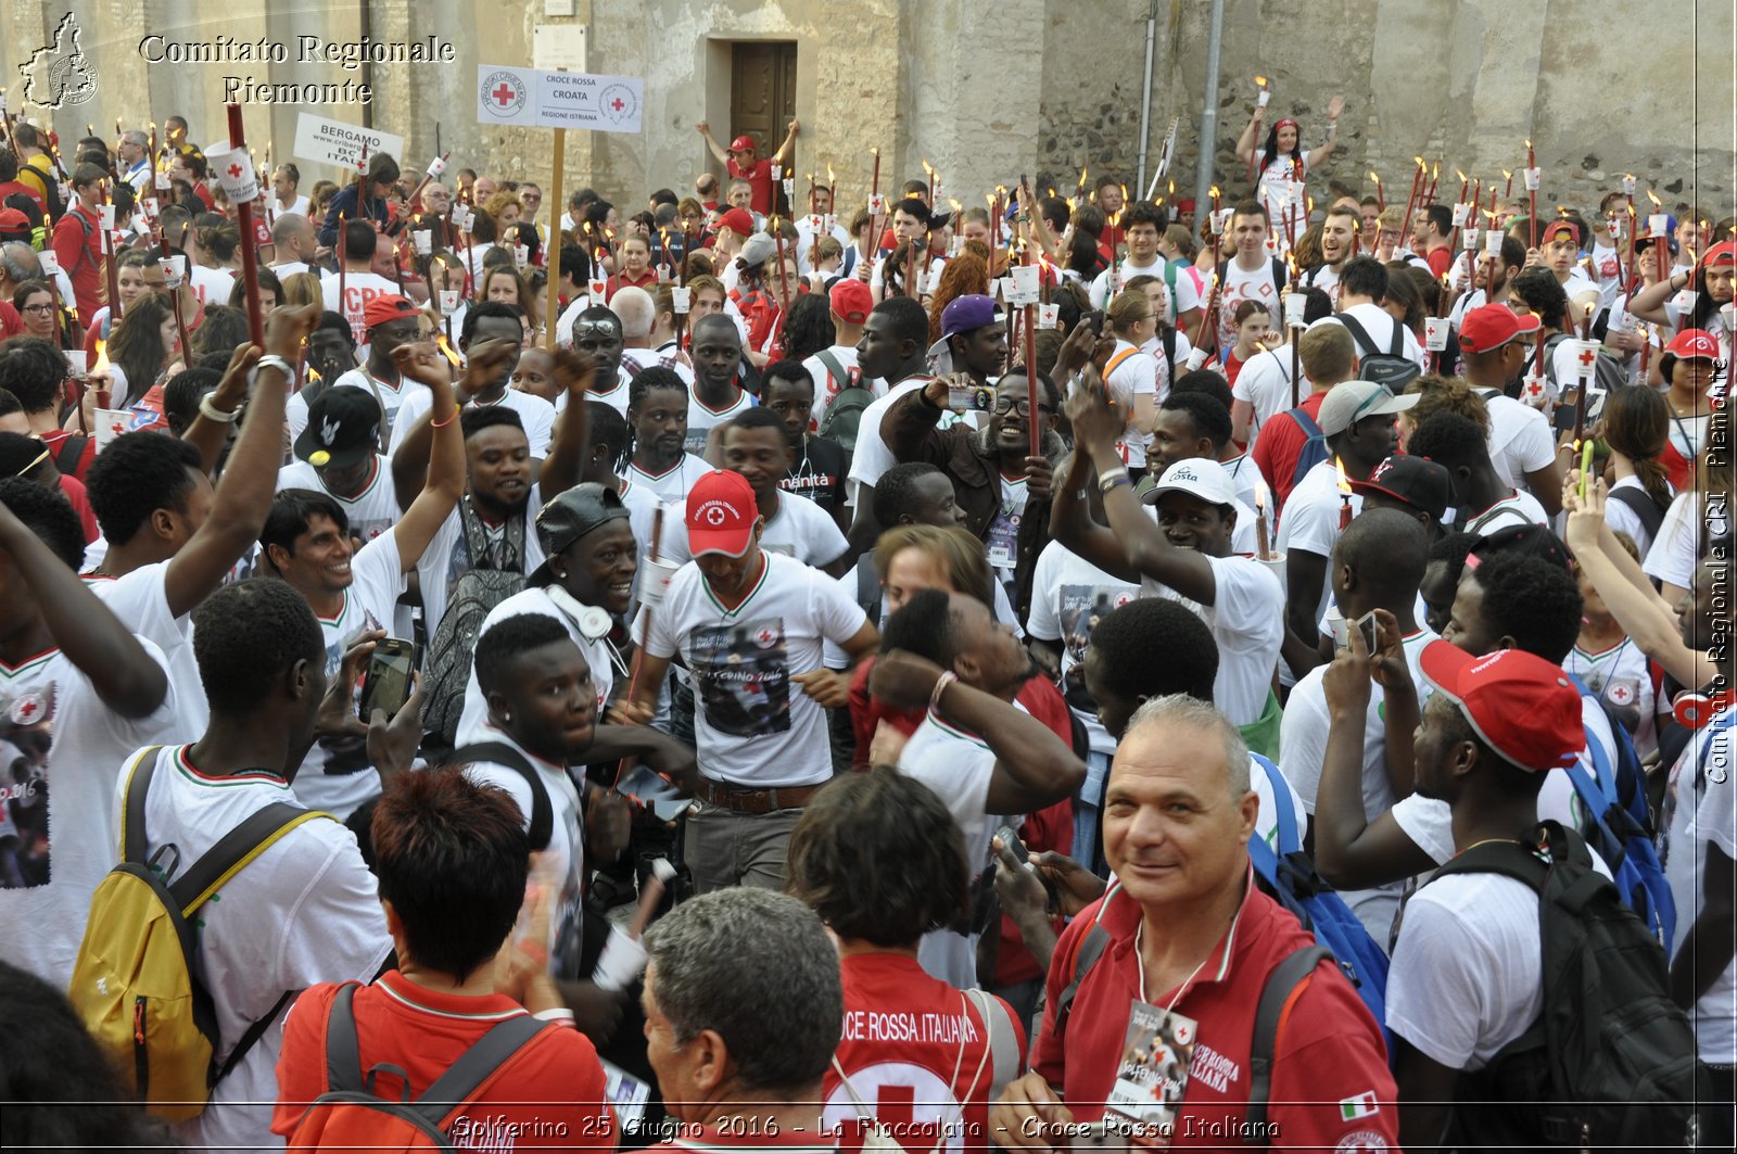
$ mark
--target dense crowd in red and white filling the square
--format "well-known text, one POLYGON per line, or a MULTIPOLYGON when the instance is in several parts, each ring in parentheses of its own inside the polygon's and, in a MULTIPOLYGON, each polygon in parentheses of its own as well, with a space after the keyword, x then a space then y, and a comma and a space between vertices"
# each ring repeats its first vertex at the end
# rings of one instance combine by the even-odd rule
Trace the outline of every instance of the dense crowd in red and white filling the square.
POLYGON ((9 1140, 1728 1149, 1734 219, 1339 111, 248 231, 5 122, 9 1140))

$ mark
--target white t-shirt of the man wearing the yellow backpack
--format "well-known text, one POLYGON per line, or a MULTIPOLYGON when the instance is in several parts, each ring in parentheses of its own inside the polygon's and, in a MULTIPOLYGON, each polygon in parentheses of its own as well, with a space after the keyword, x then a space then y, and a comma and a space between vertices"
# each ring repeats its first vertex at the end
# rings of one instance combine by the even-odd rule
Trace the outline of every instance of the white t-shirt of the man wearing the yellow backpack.
MULTIPOLYGON (((200 773, 186 754, 186 746, 158 751, 144 803, 149 850, 174 845, 181 871, 261 808, 301 801, 276 773, 212 777, 200 773)), ((125 773, 108 808, 118 817, 123 805, 125 773)), ((195 918, 200 977, 212 994, 222 1038, 214 1055, 219 1060, 248 1025, 271 1013, 285 991, 318 982, 367 982, 393 951, 379 890, 356 836, 325 819, 287 832, 226 881, 195 918)), ((280 1013, 217 1083, 205 1112, 174 1128, 177 1142, 188 1149, 281 1149, 283 1138, 271 1133, 281 1045, 280 1013)))

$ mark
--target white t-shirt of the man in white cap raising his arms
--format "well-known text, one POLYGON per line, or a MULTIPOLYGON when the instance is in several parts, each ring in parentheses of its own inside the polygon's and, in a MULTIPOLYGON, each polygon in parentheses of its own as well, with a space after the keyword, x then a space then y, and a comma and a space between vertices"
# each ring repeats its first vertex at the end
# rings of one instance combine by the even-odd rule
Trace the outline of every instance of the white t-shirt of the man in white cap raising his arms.
MULTIPOLYGON (((1202 554, 1205 556, 1205 554, 1202 554)), ((1273 570, 1247 556, 1209 556, 1212 605, 1199 605, 1150 577, 1139 582, 1146 596, 1171 598, 1193 610, 1218 641, 1218 676, 1212 700, 1232 725, 1252 725, 1266 709, 1285 638, 1285 593, 1273 570)))

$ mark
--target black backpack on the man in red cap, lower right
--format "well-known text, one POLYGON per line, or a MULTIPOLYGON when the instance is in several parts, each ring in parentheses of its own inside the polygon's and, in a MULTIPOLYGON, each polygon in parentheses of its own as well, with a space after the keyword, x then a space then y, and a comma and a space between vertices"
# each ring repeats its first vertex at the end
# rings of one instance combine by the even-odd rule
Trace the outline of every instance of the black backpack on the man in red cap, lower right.
POLYGON ((1671 1001, 1659 942, 1593 871, 1579 834, 1542 822, 1487 841, 1445 874, 1489 872, 1539 893, 1544 1008, 1482 1071, 1461 1076, 1443 1145, 1652 1149, 1694 1145, 1711 1086, 1688 1015, 1671 1001))

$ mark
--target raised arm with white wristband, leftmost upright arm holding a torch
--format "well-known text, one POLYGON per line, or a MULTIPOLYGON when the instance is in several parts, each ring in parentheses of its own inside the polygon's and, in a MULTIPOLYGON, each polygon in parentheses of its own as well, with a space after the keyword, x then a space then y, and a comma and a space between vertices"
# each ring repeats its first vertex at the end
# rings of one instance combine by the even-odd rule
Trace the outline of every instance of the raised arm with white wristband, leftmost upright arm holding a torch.
MULTIPOLYGON (((320 308, 273 309, 266 318, 266 349, 271 356, 294 365, 302 337, 320 323, 320 308)), ((259 349, 245 344, 229 358, 226 386, 241 381, 247 388, 247 370, 259 360, 259 349)), ((241 434, 229 454, 229 464, 217 481, 210 516, 186 546, 168 563, 163 591, 168 612, 175 617, 193 608, 217 591, 234 563, 247 556, 271 513, 271 495, 278 485, 278 459, 283 452, 283 405, 292 384, 292 374, 278 365, 259 370, 259 388, 247 403, 241 434)), ((214 401, 214 407, 221 407, 214 401)), ((205 415, 200 415, 205 421, 205 415)), ((222 428, 219 422, 208 424, 222 428)))

